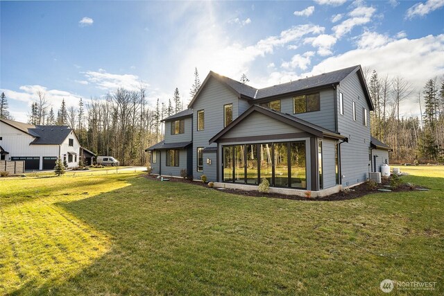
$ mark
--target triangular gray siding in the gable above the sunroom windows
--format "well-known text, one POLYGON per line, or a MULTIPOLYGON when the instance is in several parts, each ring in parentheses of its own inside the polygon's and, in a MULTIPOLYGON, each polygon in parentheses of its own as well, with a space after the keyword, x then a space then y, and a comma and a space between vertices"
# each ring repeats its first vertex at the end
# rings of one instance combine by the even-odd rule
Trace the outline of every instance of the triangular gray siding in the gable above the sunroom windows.
POLYGON ((246 119, 238 123, 221 138, 262 136, 266 134, 286 134, 291 132, 302 132, 298 128, 285 124, 282 121, 266 116, 262 113, 253 112, 246 119))

